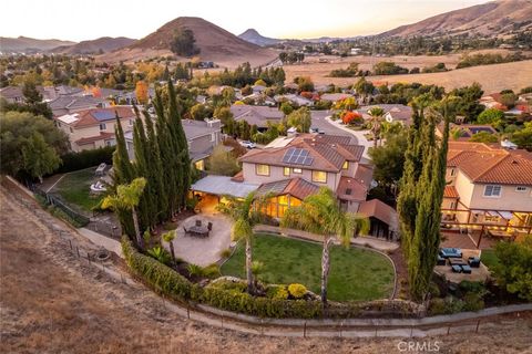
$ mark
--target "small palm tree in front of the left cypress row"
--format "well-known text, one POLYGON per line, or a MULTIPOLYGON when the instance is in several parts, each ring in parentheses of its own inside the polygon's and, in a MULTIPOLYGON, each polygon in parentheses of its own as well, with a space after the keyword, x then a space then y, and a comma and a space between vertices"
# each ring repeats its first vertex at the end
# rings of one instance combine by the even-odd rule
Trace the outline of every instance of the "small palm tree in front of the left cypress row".
POLYGON ((106 196, 102 201, 102 209, 112 208, 114 210, 129 210, 133 216, 133 226, 135 228, 136 244, 144 248, 144 241, 139 227, 139 216, 136 207, 141 200, 142 192, 146 186, 144 177, 135 178, 129 185, 116 186, 116 194, 106 196))

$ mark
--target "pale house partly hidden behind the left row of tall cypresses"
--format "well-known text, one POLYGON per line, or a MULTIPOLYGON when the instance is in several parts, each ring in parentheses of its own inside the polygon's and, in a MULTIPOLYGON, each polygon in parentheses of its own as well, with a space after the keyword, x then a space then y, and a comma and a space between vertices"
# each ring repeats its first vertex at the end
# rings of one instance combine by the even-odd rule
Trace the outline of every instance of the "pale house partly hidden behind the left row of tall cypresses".
MULTIPOLYGON (((205 159, 211 156, 213 148, 222 143, 222 123, 219 119, 182 121, 188 143, 188 155, 197 169, 205 169, 205 159)), ((127 154, 131 159, 135 158, 133 146, 133 133, 124 134, 127 154)))

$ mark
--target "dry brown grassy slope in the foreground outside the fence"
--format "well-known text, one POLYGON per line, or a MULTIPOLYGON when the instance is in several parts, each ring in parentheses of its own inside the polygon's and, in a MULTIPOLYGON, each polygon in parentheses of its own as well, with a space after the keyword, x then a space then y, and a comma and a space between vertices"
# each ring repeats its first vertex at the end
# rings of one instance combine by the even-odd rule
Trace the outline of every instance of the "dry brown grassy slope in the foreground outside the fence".
MULTIPOLYGON (((395 339, 273 339, 184 320, 167 313, 161 299, 143 287, 113 283, 73 257, 50 225, 82 248, 94 247, 45 211, 27 208, 3 187, 0 202, 2 353, 399 352, 395 339)), ((531 329, 529 317, 474 336, 422 341, 439 341, 442 353, 523 353, 531 329)))

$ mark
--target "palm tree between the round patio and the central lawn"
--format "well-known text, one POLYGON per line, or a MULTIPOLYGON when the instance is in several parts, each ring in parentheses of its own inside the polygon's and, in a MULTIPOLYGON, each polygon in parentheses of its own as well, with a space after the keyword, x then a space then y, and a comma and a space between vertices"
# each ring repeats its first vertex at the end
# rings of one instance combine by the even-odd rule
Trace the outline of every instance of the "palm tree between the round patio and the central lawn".
POLYGON ((262 207, 269 198, 269 196, 262 196, 256 198, 255 192, 250 192, 244 198, 238 200, 235 198, 226 197, 228 202, 225 205, 218 205, 218 210, 228 215, 235 223, 231 230, 231 236, 234 241, 245 240, 246 242, 246 280, 247 291, 249 293, 255 292, 255 282, 253 277, 253 258, 252 258, 252 243, 253 243, 253 227, 260 222, 264 215, 260 212, 262 207))

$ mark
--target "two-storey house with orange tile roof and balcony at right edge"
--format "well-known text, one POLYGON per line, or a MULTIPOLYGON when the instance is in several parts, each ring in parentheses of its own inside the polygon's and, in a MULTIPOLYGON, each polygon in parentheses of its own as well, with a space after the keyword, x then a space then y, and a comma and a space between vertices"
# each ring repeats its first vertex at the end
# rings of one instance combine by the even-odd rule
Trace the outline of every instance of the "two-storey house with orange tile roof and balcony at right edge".
POLYGON ((513 239, 532 229, 532 153, 497 145, 450 142, 442 228, 513 239))

